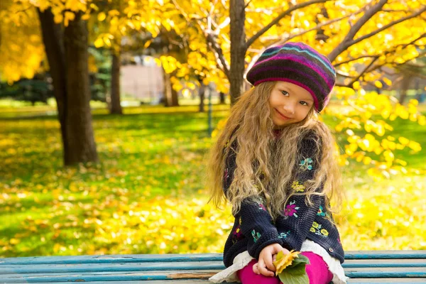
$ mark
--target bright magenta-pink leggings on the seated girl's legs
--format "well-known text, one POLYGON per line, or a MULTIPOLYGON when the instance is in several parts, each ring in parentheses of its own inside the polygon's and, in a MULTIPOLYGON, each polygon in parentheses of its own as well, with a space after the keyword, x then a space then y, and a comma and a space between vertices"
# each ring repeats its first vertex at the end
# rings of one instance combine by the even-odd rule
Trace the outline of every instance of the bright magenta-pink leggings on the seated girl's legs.
MULTIPOLYGON (((328 270, 327 263, 321 256, 310 251, 304 251, 302 255, 309 258, 310 264, 306 266, 307 277, 310 284, 328 284, 333 279, 333 273, 328 270)), ((280 284, 282 283, 278 277, 268 277, 253 272, 253 265, 257 261, 253 259, 246 267, 237 271, 241 283, 243 284, 280 284)))

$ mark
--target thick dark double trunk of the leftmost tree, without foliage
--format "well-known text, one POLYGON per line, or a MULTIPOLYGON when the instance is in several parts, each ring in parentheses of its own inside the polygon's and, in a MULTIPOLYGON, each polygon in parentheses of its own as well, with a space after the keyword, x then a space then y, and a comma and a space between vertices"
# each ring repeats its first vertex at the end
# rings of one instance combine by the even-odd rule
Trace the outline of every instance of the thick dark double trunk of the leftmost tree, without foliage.
POLYGON ((96 162, 88 70, 88 31, 82 12, 62 28, 50 9, 38 9, 43 42, 58 104, 64 164, 96 162))

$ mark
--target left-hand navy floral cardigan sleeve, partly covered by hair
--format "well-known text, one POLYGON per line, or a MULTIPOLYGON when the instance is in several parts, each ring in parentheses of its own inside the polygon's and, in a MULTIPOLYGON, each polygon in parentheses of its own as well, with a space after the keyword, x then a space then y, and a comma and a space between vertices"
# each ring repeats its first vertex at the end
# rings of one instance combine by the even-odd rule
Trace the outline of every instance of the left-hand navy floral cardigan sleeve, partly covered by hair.
MULTIPOLYGON (((229 151, 224 172, 225 195, 234 178, 235 168, 236 153, 229 151)), ((239 212, 235 214, 235 218, 239 219, 241 234, 248 241, 247 251, 253 258, 258 259, 262 249, 270 244, 283 244, 281 239, 278 238, 278 231, 271 214, 261 202, 253 201, 249 198, 243 200, 239 212)))

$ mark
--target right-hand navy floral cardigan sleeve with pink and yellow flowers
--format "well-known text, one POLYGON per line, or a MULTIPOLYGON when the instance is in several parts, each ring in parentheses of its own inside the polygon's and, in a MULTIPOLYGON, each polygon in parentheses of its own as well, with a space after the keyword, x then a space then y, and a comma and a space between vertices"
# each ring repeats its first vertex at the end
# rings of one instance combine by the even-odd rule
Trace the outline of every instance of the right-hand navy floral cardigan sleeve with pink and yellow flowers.
MULTIPOLYGON (((297 161, 295 180, 290 185, 289 192, 302 193, 305 190, 305 181, 315 177, 317 170, 315 156, 320 155, 317 153, 318 151, 312 138, 302 140, 300 160, 297 161)), ((317 188, 316 191, 322 192, 322 187, 317 188)), ((324 201, 324 196, 312 195, 311 201, 312 205, 307 206, 305 195, 293 195, 285 204, 284 216, 277 219, 277 227, 285 249, 300 251, 308 232, 312 230, 315 216, 320 209, 320 204, 324 201)))

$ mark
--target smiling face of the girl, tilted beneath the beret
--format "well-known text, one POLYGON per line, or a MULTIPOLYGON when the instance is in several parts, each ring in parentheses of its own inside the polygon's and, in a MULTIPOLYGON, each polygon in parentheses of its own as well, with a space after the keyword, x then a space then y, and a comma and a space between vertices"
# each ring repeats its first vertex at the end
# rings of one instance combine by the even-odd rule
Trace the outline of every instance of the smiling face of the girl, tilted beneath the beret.
POLYGON ((289 82, 276 82, 269 96, 272 120, 276 128, 305 119, 314 107, 314 99, 306 89, 289 82))

